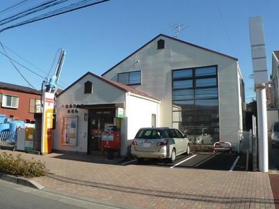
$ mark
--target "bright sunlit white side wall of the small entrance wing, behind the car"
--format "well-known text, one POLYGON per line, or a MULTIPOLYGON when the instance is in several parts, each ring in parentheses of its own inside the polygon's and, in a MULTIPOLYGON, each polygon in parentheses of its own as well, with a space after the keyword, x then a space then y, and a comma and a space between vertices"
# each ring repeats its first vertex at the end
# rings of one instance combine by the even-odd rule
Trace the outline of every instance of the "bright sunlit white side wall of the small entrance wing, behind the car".
POLYGON ((123 128, 123 137, 121 144, 121 155, 127 154, 127 148, 135 138, 135 134, 141 127, 151 127, 151 116, 156 114, 156 127, 158 127, 159 102, 140 98, 130 93, 126 94, 126 117, 121 123, 121 132, 123 128))

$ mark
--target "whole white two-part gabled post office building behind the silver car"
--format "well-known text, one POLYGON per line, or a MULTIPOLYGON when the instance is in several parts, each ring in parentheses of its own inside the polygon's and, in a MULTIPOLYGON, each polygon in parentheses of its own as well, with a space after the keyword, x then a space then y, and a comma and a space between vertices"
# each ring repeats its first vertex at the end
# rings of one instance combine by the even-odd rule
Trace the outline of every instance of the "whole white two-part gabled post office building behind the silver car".
POLYGON ((60 93, 54 149, 98 150, 101 133, 118 125, 119 107, 122 155, 137 130, 151 126, 177 127, 193 143, 221 140, 236 148, 244 95, 236 58, 160 34, 102 77, 88 72, 60 93))

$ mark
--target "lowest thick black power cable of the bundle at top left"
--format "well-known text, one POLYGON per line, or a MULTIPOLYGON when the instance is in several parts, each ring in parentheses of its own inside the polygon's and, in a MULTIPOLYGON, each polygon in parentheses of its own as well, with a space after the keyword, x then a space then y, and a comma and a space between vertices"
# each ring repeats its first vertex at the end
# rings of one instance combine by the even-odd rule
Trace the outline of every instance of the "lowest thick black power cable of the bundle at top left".
POLYGON ((93 6, 93 5, 96 5, 96 4, 99 4, 99 3, 104 3, 105 1, 110 1, 110 0, 102 0, 102 1, 95 1, 93 3, 89 3, 89 4, 86 4, 84 6, 80 6, 80 7, 77 7, 77 8, 72 8, 72 9, 69 9, 69 10, 66 10, 66 11, 63 11, 63 12, 60 12, 60 13, 54 13, 53 15, 48 15, 46 17, 41 17, 41 18, 38 18, 38 19, 33 19, 33 20, 27 20, 27 21, 24 21, 24 22, 20 22, 18 24, 13 24, 11 26, 8 26, 6 28, 3 28, 0 30, 0 33, 3 32, 3 31, 6 31, 8 29, 13 29, 15 27, 18 27, 18 26, 22 26, 24 24, 29 24, 29 23, 32 23, 32 22, 38 22, 40 20, 45 20, 47 18, 50 18, 50 17, 54 17, 54 16, 57 16, 57 15, 62 15, 62 14, 65 14, 65 13, 70 13, 70 12, 73 12, 74 10, 80 10, 82 8, 86 8, 86 7, 89 7, 89 6, 93 6))

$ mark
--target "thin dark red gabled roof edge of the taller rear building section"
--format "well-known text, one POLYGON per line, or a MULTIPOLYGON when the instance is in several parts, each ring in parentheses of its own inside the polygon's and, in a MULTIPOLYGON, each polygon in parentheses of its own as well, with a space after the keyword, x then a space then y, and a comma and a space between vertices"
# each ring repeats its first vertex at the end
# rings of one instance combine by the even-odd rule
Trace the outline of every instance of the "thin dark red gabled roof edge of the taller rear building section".
POLYGON ((105 72, 102 74, 102 76, 104 76, 107 72, 109 72, 110 70, 112 70, 113 68, 115 68, 117 65, 123 63, 123 61, 126 61, 126 59, 128 59, 130 56, 133 56, 135 53, 139 52, 140 49, 146 47, 146 45, 149 45, 149 43, 153 42, 153 40, 156 40, 156 38, 158 38, 158 37, 160 37, 160 36, 163 36, 163 37, 165 37, 165 38, 169 38, 169 39, 172 39, 172 40, 176 40, 176 41, 181 42, 181 43, 183 43, 183 44, 191 45, 191 46, 197 47, 197 48, 199 48, 199 49, 204 49, 204 50, 206 50, 206 51, 208 51, 208 52, 213 52, 213 53, 219 54, 219 55, 221 55, 221 56, 226 56, 226 57, 228 57, 228 58, 230 58, 230 59, 234 59, 235 61, 238 61, 238 59, 235 58, 235 57, 233 57, 233 56, 229 56, 229 55, 227 55, 227 54, 223 54, 223 53, 220 53, 220 52, 216 52, 216 51, 213 51, 213 50, 211 50, 211 49, 207 49, 207 48, 205 48, 205 47, 201 47, 201 46, 199 46, 199 45, 194 45, 194 44, 192 44, 192 43, 190 43, 190 42, 186 42, 186 41, 184 41, 184 40, 180 40, 180 39, 174 38, 174 37, 172 37, 172 36, 167 36, 167 35, 161 33, 161 34, 159 34, 158 36, 156 36, 155 38, 153 38, 152 40, 150 40, 149 42, 147 42, 145 45, 143 45, 142 47, 140 47, 139 49, 137 49, 135 52, 133 52, 132 54, 130 54, 129 56, 127 56, 125 59, 123 59, 122 61, 120 61, 120 62, 117 63, 116 65, 114 65, 112 68, 110 68, 109 70, 105 71, 105 72))

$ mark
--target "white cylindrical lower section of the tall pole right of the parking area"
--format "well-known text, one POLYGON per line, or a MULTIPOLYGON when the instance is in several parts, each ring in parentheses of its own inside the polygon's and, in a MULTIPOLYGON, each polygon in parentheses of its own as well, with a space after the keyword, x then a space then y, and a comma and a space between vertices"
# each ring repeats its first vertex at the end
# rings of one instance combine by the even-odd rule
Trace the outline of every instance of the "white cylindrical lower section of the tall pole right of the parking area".
POLYGON ((267 117, 266 117, 266 86, 255 84, 257 93, 257 127, 259 141, 259 171, 269 171, 269 150, 267 139, 267 117))

